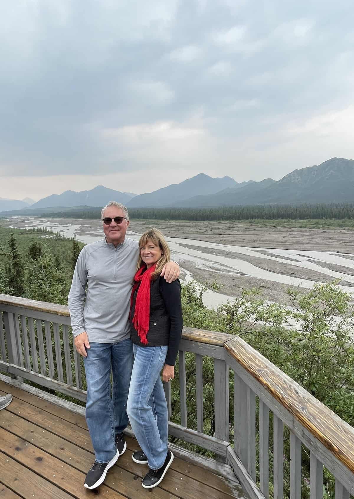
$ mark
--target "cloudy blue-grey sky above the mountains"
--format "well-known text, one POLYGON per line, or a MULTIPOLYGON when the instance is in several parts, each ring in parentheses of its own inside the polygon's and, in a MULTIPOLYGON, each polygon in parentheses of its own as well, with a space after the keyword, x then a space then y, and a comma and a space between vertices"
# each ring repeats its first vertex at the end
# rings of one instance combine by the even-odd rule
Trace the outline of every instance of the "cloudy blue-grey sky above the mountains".
POLYGON ((354 2, 1 0, 0 197, 354 158, 354 2))

